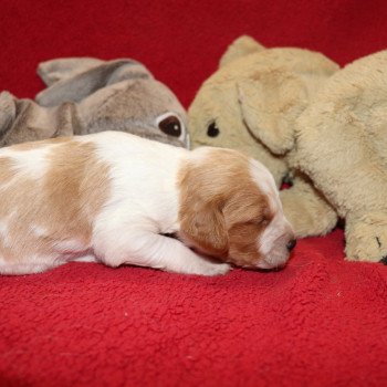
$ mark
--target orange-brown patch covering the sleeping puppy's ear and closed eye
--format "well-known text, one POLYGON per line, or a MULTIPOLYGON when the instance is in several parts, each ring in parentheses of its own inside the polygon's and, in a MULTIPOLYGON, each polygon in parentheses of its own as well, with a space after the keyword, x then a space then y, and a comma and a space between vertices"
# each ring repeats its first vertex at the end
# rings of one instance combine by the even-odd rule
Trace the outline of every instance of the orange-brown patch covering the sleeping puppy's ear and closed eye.
POLYGON ((227 262, 257 263, 257 241, 273 213, 252 179, 248 157, 211 149, 182 167, 179 187, 182 240, 227 262))

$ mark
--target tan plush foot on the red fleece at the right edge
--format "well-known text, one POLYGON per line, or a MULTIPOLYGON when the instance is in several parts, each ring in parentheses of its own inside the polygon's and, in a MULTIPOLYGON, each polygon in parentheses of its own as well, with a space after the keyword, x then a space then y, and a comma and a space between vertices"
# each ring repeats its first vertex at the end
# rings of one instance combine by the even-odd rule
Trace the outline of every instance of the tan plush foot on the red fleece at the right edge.
POLYGON ((387 264, 387 216, 363 221, 346 227, 346 254, 349 261, 380 262, 387 264))

